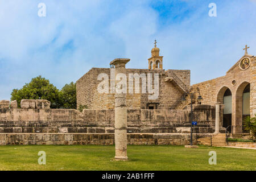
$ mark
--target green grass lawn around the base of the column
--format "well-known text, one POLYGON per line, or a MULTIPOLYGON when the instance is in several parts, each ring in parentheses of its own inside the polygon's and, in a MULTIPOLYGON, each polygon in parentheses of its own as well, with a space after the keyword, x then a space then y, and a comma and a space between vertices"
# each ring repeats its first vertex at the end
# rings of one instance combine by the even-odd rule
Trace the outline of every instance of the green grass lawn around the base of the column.
POLYGON ((114 146, 0 146, 0 170, 256 170, 256 151, 200 146, 128 146, 128 162, 114 161, 114 146), (46 152, 46 165, 38 152, 46 152), (217 164, 210 165, 209 151, 217 164))

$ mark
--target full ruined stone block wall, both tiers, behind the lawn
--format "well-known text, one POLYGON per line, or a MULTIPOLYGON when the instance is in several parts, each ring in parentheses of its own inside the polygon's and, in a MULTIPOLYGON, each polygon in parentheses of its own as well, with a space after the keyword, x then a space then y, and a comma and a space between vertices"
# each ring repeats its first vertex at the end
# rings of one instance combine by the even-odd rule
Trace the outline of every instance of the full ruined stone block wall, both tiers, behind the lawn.
MULTIPOLYGON (((196 142, 214 132, 215 107, 193 107, 196 142)), ((127 109, 128 144, 189 144, 190 115, 189 108, 127 109)), ((114 110, 0 109, 0 145, 10 144, 114 144, 114 110)))

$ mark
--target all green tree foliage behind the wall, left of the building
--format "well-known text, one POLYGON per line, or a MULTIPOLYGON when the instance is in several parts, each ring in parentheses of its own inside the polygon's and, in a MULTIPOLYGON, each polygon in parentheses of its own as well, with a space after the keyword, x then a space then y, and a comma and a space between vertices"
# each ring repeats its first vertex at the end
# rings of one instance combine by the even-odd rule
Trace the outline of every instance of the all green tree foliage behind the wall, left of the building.
POLYGON ((76 109, 76 84, 66 84, 61 90, 49 80, 38 76, 21 89, 13 89, 11 101, 16 100, 20 107, 22 99, 43 99, 51 102, 51 108, 76 109))

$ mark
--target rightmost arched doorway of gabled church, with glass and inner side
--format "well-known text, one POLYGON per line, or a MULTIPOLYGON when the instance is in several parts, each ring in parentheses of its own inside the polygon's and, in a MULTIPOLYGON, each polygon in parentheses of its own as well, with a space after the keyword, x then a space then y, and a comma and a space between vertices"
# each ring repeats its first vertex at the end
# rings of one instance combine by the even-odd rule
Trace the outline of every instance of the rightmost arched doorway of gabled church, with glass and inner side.
POLYGON ((243 119, 250 115, 250 83, 242 82, 236 92, 236 126, 235 133, 247 133, 243 129, 243 119))

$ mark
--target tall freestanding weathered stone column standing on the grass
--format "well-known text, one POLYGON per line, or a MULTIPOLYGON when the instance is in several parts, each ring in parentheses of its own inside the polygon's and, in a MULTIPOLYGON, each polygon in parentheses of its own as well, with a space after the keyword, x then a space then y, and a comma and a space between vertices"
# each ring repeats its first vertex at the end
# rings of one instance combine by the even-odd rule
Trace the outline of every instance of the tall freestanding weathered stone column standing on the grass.
MULTIPOLYGON (((115 66, 115 76, 118 73, 126 75, 125 64, 130 59, 114 59, 110 65, 115 66)), ((115 85, 117 85, 115 80, 115 85)), ((127 90, 125 90, 127 92, 127 90)), ((126 92, 115 91, 115 160, 128 160, 127 157, 127 107, 126 92)))

